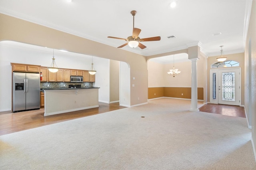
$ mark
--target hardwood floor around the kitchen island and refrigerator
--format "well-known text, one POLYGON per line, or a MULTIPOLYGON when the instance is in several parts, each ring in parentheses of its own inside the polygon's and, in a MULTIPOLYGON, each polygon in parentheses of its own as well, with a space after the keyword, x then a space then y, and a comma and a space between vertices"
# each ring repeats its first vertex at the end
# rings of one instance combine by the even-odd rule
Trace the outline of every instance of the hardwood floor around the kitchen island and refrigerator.
POLYGON ((62 113, 60 115, 51 115, 44 117, 44 109, 12 113, 11 111, 0 112, 0 135, 19 132, 30 128, 41 127, 58 122, 96 115, 108 111, 123 109, 119 103, 102 103, 99 102, 98 108, 86 109, 62 113))

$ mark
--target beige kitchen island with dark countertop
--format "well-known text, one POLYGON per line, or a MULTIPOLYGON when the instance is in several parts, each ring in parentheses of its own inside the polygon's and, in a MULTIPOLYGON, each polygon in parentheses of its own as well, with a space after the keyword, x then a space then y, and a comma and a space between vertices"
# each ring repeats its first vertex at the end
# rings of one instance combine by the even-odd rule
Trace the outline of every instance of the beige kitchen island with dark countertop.
POLYGON ((99 87, 44 90, 44 116, 99 107, 99 87))

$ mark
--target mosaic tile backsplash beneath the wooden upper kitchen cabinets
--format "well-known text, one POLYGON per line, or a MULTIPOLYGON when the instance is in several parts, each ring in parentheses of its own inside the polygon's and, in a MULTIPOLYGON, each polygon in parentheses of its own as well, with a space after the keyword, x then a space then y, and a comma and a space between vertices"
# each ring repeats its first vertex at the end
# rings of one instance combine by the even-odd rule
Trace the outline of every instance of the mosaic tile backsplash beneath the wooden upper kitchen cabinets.
POLYGON ((68 88, 68 85, 81 85, 81 87, 93 87, 93 83, 64 83, 64 82, 40 82, 40 89, 47 88, 68 88), (49 87, 48 87, 49 85, 49 87))

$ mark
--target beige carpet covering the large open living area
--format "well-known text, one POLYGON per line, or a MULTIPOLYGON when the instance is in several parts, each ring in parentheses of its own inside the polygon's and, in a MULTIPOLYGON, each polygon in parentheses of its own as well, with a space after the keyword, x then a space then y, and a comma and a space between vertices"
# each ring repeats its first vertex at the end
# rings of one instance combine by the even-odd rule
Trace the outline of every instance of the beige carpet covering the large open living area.
POLYGON ((256 170, 245 118, 189 109, 162 98, 3 135, 0 169, 256 170))

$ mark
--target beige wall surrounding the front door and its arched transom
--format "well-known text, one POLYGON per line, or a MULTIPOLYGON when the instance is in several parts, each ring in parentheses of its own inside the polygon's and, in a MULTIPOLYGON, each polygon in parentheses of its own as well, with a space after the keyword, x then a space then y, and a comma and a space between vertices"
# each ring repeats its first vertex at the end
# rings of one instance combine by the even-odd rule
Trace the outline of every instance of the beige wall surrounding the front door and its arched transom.
MULTIPOLYGON (((225 53, 225 51, 224 51, 225 53)), ((244 105, 244 53, 236 53, 236 54, 229 54, 229 55, 225 55, 227 58, 227 60, 234 60, 240 63, 239 67, 241 67, 241 104, 244 105)), ((211 69, 211 65, 213 63, 218 62, 217 58, 218 56, 213 56, 213 57, 208 57, 207 59, 207 82, 208 82, 208 99, 207 101, 210 102, 210 69, 211 69)))

